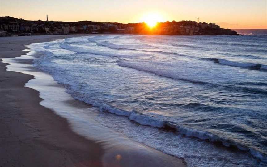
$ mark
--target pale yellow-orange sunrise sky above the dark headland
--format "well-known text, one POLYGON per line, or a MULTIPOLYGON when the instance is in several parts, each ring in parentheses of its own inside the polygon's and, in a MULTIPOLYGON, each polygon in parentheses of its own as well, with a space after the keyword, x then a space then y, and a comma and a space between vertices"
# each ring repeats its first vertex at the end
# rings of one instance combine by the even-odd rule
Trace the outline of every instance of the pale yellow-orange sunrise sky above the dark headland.
POLYGON ((26 20, 212 22, 222 28, 267 29, 267 0, 0 0, 0 16, 26 20))

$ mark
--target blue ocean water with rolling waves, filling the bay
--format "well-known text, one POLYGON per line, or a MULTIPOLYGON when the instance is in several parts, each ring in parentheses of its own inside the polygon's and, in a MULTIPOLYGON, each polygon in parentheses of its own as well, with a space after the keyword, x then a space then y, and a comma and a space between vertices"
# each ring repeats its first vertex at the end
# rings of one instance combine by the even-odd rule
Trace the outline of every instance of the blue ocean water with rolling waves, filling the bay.
MULTIPOLYGON (((202 157, 207 162, 215 161, 212 158, 228 147, 253 160, 230 163, 227 158, 232 155, 226 155, 211 166, 265 166, 264 32, 242 36, 95 35, 34 44, 32 48, 45 53, 35 60, 36 67, 49 72, 75 99, 98 107, 100 112, 114 113, 100 116, 100 122, 112 124, 111 128, 130 138, 134 134, 133 140, 152 147, 156 142, 156 149, 183 157, 186 153, 178 153, 177 145, 167 140, 182 135, 188 141, 197 139, 195 146, 203 141, 222 146, 216 154, 202 157), (148 125, 146 134, 166 130, 157 132, 154 144, 149 144, 137 133, 138 126, 130 127, 136 125, 125 120, 121 126, 122 118, 117 115, 148 125)), ((191 157, 193 154, 190 152, 191 157)))

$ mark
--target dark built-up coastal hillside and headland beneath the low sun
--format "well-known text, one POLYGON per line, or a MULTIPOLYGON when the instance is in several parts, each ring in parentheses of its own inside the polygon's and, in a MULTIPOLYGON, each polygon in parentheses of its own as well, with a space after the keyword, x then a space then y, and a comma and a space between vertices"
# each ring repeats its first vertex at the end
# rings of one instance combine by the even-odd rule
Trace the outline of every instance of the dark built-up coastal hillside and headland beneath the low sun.
POLYGON ((30 21, 10 16, 0 17, 0 36, 10 35, 42 35, 42 34, 97 34, 97 33, 121 33, 121 34, 159 34, 159 35, 238 35, 231 29, 220 28, 215 23, 195 21, 158 22, 150 27, 146 22, 142 23, 118 23, 118 22, 61 22, 30 21))

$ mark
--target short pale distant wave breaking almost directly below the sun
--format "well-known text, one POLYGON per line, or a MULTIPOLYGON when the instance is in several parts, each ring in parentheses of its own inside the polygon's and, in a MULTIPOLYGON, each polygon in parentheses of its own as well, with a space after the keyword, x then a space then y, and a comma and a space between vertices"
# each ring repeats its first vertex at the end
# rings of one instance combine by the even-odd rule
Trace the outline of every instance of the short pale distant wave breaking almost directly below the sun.
POLYGON ((108 47, 110 49, 117 49, 117 50, 120 50, 120 49, 138 50, 140 48, 152 47, 151 45, 148 45, 148 44, 144 44, 144 45, 119 45, 119 44, 110 43, 108 41, 103 41, 103 42, 97 43, 97 45, 103 46, 103 47, 108 47))

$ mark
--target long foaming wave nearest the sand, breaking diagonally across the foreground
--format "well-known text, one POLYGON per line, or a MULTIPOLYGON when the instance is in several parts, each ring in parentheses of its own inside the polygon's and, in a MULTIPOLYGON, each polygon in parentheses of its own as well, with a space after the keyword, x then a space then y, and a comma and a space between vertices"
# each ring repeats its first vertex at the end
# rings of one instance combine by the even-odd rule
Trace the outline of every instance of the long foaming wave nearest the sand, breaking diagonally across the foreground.
POLYGON ((88 100, 85 100, 83 98, 75 97, 75 99, 86 102, 91 104, 94 107, 98 107, 101 112, 110 112, 112 114, 116 114, 119 116, 126 116, 129 120, 132 120, 138 124, 156 127, 156 128, 163 128, 163 129, 172 129, 174 131, 179 132, 180 134, 183 134, 187 137, 197 137, 201 140, 208 140, 210 142, 214 143, 221 143, 222 145, 226 147, 235 147, 242 151, 248 151, 253 157, 263 161, 267 162, 267 156, 265 153, 262 153, 259 150, 256 150, 255 148, 249 147, 247 145, 244 145, 242 143, 239 143, 237 141, 231 140, 229 138, 221 137, 218 135, 215 135, 211 132, 197 129, 197 128, 191 128, 188 126, 184 126, 182 124, 178 124, 176 122, 168 121, 164 119, 164 116, 158 115, 158 114, 145 114, 142 112, 138 112, 135 110, 132 111, 126 111, 123 109, 115 108, 108 104, 101 104, 97 102, 89 102, 88 100))

